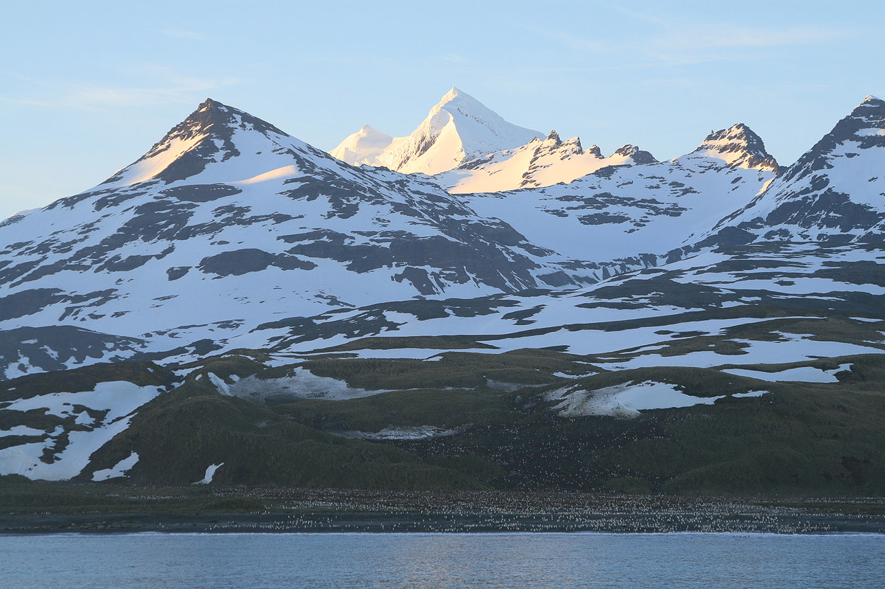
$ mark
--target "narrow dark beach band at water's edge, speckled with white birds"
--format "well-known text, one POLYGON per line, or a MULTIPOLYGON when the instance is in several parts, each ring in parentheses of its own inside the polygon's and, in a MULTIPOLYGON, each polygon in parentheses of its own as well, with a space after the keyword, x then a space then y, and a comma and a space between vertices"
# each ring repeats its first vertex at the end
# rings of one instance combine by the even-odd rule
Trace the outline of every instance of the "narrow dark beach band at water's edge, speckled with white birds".
POLYGON ((885 516, 848 514, 212 513, 0 516, 0 536, 56 533, 758 532, 885 534, 885 516))

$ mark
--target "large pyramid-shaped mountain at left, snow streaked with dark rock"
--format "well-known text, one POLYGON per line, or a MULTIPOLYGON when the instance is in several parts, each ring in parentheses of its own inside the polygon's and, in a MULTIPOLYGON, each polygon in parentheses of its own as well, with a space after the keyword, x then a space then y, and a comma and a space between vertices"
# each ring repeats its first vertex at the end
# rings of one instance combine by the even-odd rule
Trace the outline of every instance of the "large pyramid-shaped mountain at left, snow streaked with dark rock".
POLYGON ((55 335, 64 348, 50 356, 8 350, 8 378, 57 369, 51 355, 82 338, 161 351, 282 315, 595 280, 435 184, 343 164, 212 100, 99 186, 3 227, 0 242, 4 329, 89 332, 55 335))

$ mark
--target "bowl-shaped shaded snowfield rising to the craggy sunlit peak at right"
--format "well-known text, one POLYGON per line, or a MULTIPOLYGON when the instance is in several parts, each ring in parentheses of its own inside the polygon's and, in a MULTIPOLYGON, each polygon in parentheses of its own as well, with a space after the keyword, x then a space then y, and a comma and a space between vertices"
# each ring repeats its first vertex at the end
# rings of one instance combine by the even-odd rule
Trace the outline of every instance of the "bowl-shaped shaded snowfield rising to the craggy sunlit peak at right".
POLYGON ((750 203, 779 168, 758 135, 735 125, 690 154, 639 159, 596 170, 570 184, 460 195, 473 210, 504 220, 545 248, 575 259, 658 265, 666 252, 696 240, 729 212, 750 203), (660 257, 658 257, 660 256, 660 257))

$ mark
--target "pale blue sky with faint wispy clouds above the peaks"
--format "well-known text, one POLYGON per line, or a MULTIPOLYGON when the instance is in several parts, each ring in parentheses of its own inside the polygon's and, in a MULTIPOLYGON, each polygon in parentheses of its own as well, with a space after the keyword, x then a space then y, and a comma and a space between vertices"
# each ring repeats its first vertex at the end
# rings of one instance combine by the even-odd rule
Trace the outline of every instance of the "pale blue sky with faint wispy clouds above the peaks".
POLYGON ((99 184, 206 97, 320 149, 452 86, 605 155, 743 122, 781 164, 885 97, 885 4, 30 2, 0 22, 0 218, 99 184), (850 8, 848 8, 850 6, 850 8))

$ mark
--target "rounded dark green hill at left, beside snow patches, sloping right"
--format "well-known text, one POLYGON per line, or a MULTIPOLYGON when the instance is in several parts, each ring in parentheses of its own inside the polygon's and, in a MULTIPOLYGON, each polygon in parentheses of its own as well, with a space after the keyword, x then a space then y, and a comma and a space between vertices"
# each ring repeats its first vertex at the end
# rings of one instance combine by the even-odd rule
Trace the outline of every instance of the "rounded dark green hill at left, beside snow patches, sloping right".
MULTIPOLYGON (((126 432, 93 455, 93 464, 111 466, 132 450, 140 456, 135 484, 187 484, 201 480, 210 464, 224 463, 213 479, 221 484, 482 487, 400 448, 345 440, 220 395, 209 379, 188 379, 150 402, 126 432)), ((92 470, 81 478, 88 480, 92 470)))

